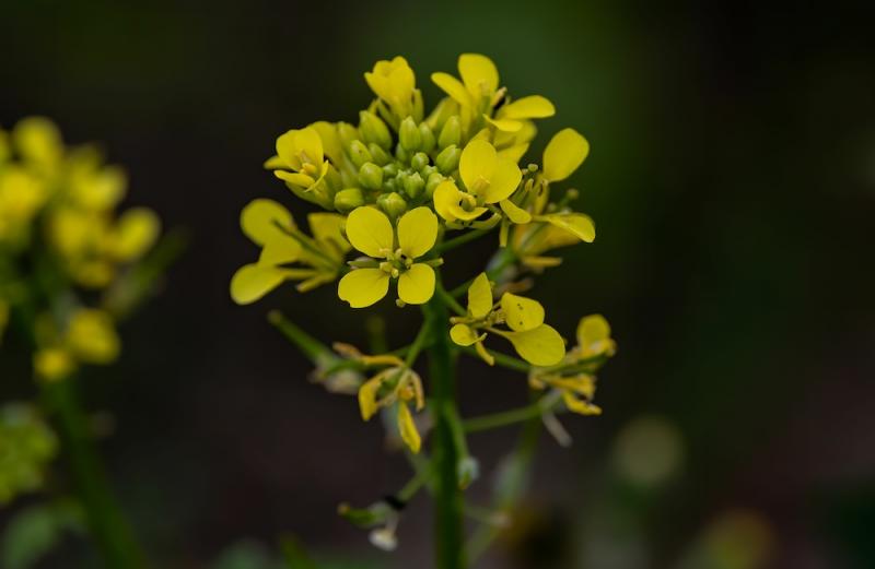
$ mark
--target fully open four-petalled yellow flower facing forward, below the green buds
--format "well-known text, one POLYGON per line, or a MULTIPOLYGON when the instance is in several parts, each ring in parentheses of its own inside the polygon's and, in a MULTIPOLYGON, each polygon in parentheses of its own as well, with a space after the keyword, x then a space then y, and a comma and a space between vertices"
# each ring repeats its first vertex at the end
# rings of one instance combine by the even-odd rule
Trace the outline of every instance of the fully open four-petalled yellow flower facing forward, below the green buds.
POLYGON ((432 297, 434 269, 416 262, 438 239, 438 217, 430 209, 416 208, 405 213, 396 230, 376 208, 358 208, 347 218, 347 237, 371 260, 340 280, 337 294, 341 300, 352 308, 371 306, 386 296, 392 278, 398 280, 398 298, 402 303, 421 305, 432 297))

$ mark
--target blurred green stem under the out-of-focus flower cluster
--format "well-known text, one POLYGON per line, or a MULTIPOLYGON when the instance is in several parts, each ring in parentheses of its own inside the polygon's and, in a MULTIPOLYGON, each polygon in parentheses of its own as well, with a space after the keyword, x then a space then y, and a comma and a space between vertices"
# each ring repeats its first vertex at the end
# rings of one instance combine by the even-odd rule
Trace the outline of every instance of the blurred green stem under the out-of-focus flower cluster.
POLYGON ((109 488, 85 413, 77 398, 74 379, 44 383, 43 393, 56 418, 91 534, 106 567, 142 569, 147 567, 145 557, 109 488))

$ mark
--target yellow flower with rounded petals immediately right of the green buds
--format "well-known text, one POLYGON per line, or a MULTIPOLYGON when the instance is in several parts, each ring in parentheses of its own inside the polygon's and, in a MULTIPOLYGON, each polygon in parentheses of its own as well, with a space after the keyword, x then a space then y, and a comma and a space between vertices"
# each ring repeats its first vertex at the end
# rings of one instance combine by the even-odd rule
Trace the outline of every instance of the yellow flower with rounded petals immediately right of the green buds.
POLYGON ((489 142, 476 139, 462 151, 458 171, 467 191, 452 180, 434 189, 434 209, 447 222, 469 222, 482 215, 485 204, 500 203, 508 213, 517 208, 508 199, 523 174, 516 163, 498 155, 489 142))

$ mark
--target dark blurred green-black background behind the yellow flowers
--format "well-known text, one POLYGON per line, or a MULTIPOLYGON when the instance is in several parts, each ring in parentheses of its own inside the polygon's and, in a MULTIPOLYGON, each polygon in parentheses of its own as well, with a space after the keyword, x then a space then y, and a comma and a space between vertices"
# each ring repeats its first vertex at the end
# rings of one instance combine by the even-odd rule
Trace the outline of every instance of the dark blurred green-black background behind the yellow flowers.
MULTIPOLYGON (((427 499, 392 555, 336 515, 407 467, 265 320, 280 308, 362 345, 364 316, 332 287, 236 307, 228 283, 256 254, 237 227, 247 201, 305 212, 260 167, 279 133, 353 121, 362 72, 395 55, 433 103, 429 73, 463 51, 556 103, 536 156, 564 126, 591 141, 571 181, 598 238, 535 295, 565 333, 604 313, 620 348, 599 378, 604 416, 564 420, 570 449, 544 437, 525 515, 481 567, 875 566, 873 15, 862 2, 2 1, 0 125, 39 114, 69 142, 100 141, 129 171, 129 203, 190 237, 125 325, 119 365, 83 386, 112 419, 101 448, 155 566, 252 557, 293 534, 354 567, 429 567, 427 499)), ((380 311, 406 343, 415 311, 380 311)), ((28 394, 14 358, 0 355, 3 399, 28 394)), ((524 380, 477 363, 460 381, 465 414, 525 401, 524 380)), ((516 436, 471 437, 472 500, 516 436)), ((43 567, 93 562, 71 538, 43 567)))

